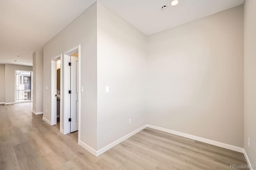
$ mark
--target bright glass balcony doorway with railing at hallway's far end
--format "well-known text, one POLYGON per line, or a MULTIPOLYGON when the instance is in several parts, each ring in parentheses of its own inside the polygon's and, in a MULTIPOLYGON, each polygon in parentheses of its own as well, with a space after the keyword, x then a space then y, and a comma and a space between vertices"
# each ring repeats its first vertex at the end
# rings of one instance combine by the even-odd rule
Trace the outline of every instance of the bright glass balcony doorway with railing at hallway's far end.
POLYGON ((33 100, 32 71, 16 70, 16 103, 31 102, 33 100))

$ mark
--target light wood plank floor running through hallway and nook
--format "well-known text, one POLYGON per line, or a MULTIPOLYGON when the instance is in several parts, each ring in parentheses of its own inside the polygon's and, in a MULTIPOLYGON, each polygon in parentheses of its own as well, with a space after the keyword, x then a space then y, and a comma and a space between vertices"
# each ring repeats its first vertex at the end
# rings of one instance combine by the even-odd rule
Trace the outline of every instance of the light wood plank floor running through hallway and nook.
MULTIPOLYGON (((96 157, 61 134, 31 103, 0 105, 0 170, 225 170, 247 165, 242 153, 146 128, 96 157)), ((110 134, 111 135, 111 134, 110 134)))

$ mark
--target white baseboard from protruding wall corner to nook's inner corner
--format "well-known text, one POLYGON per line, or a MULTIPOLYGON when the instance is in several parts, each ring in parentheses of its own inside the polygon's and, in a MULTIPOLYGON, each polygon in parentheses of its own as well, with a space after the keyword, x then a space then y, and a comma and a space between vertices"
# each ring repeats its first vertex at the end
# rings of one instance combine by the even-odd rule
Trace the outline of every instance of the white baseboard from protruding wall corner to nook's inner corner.
POLYGON ((125 136, 123 136, 122 138, 112 142, 111 144, 105 146, 104 148, 101 148, 100 150, 97 151, 97 156, 99 156, 100 154, 103 154, 104 152, 106 152, 107 150, 109 150, 110 148, 113 148, 114 146, 116 146, 117 144, 121 143, 122 141, 130 138, 131 136, 133 136, 134 134, 140 132, 140 130, 143 130, 144 128, 146 128, 147 125, 144 125, 136 130, 134 130, 133 132, 130 132, 129 134, 126 134, 125 136))

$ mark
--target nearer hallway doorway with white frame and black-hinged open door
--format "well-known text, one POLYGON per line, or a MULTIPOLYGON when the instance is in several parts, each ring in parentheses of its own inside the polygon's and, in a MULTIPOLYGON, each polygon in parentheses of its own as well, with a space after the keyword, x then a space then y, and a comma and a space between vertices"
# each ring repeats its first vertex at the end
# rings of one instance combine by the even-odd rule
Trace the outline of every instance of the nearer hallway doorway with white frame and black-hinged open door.
MULTIPOLYGON (((65 134, 72 133, 80 141, 80 45, 64 53, 65 134)), ((82 91, 82 89, 81 89, 82 91)))

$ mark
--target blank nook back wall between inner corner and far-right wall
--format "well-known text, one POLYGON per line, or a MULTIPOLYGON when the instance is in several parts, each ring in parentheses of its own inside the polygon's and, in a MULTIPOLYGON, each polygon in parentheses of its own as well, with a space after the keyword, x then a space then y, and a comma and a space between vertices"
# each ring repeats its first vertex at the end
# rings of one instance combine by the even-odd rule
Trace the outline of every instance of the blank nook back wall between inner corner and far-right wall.
POLYGON ((243 147, 243 6, 148 37, 147 122, 243 147))

